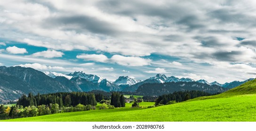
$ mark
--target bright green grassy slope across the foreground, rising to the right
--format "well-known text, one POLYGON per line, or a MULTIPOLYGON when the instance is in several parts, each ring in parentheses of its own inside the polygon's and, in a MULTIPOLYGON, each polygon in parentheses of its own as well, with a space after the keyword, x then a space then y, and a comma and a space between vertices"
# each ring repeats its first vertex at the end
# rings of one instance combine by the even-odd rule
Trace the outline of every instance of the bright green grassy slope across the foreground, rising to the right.
POLYGON ((151 109, 126 107, 6 121, 256 121, 256 80, 220 95, 151 109))

